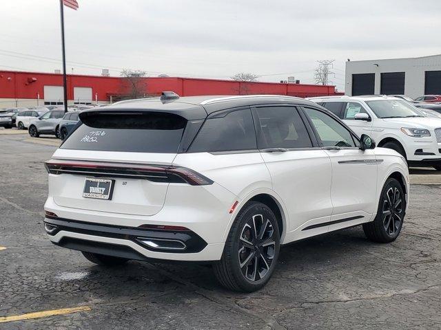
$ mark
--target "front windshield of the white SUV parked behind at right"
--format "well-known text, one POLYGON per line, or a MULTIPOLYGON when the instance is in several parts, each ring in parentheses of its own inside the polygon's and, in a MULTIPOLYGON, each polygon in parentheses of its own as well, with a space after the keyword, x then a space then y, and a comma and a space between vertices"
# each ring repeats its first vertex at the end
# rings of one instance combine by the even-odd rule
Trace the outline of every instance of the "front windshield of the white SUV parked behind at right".
POLYGON ((404 100, 376 100, 366 103, 378 118, 423 117, 416 107, 404 100))

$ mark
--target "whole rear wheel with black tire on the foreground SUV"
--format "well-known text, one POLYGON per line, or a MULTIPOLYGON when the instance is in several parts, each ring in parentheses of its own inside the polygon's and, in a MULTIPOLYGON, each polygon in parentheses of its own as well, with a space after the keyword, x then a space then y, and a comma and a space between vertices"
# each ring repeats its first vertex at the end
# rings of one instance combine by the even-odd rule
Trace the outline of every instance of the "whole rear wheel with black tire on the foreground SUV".
POLYGON ((280 234, 274 213, 263 203, 249 202, 234 220, 222 258, 214 264, 214 274, 227 289, 254 292, 271 278, 279 249, 280 234), (252 228, 254 223, 256 229, 252 228))

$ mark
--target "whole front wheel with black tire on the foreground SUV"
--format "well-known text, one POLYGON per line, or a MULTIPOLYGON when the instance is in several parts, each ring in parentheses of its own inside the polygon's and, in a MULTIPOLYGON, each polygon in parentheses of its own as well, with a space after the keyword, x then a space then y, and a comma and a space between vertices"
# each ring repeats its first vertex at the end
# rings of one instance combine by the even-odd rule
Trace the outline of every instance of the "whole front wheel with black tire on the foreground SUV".
POLYGON ((381 191, 376 218, 363 224, 367 238, 378 243, 395 241, 401 232, 405 210, 406 199, 402 186, 396 179, 389 177, 381 191))

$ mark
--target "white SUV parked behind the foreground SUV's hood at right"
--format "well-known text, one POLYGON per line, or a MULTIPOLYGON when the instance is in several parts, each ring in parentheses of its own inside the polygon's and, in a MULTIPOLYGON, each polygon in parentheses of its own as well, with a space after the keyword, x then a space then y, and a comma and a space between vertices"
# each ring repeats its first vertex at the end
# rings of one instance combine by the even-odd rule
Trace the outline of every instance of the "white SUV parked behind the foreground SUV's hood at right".
POLYGON ((368 134, 377 146, 391 148, 409 166, 441 170, 441 119, 425 117, 412 104, 391 96, 309 98, 336 114, 358 135, 368 134))

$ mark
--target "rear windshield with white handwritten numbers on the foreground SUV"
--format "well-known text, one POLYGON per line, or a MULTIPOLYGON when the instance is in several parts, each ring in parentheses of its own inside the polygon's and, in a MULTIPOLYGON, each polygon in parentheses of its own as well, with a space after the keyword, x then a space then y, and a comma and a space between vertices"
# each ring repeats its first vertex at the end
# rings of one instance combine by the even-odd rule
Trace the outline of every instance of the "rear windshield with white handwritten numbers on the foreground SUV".
POLYGON ((187 120, 171 113, 94 113, 61 148, 136 153, 176 153, 187 120))

